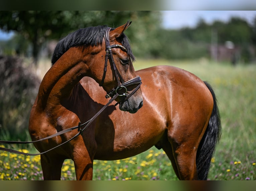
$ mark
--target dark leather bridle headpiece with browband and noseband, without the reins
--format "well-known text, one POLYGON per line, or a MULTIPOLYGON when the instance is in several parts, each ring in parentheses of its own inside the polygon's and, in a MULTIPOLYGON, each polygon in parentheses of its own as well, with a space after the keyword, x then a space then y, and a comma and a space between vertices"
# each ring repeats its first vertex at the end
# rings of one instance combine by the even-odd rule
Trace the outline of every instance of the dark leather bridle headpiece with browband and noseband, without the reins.
MULTIPOLYGON (((103 71, 103 77, 100 83, 100 86, 103 85, 105 77, 106 77, 106 72, 107 72, 107 66, 108 66, 108 60, 110 65, 112 66, 113 70, 114 70, 114 74, 115 74, 115 78, 117 80, 118 86, 116 88, 113 88, 105 97, 109 98, 109 97, 113 97, 114 95, 118 94, 119 96, 124 96, 125 98, 122 100, 126 101, 130 96, 132 96, 140 87, 141 83, 141 78, 139 76, 136 76, 135 78, 124 82, 122 76, 120 75, 119 71, 116 68, 116 64, 113 58, 113 53, 112 53, 112 48, 121 48, 123 51, 127 52, 127 49, 122 46, 122 45, 110 45, 110 41, 109 41, 109 32, 110 32, 111 28, 108 27, 106 30, 106 33, 104 35, 104 39, 106 42, 106 56, 105 56, 105 65, 104 65, 104 71, 103 71), (129 86, 134 86, 137 85, 137 87, 128 95, 127 93, 127 88, 129 86)), ((118 104, 118 103, 117 103, 118 104)), ((116 104, 116 105, 117 105, 116 104)))

